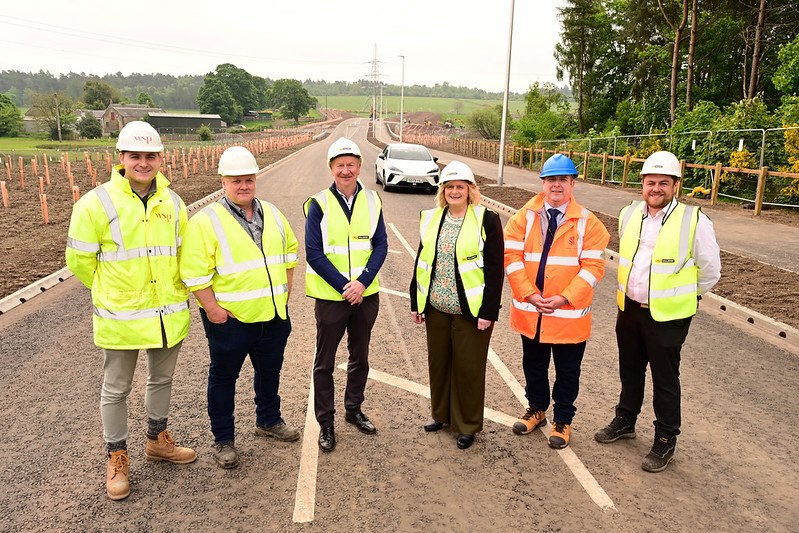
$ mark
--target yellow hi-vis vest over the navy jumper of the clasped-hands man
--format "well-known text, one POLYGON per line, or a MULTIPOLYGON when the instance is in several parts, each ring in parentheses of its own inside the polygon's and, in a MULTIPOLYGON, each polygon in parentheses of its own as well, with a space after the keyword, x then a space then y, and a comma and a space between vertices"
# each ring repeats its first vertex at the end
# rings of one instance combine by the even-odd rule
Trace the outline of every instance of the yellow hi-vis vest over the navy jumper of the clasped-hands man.
MULTIPOLYGON (((321 232, 325 257, 342 276, 350 281, 358 279, 372 255, 372 237, 377 231, 383 208, 380 196, 375 191, 362 188, 355 195, 350 220, 347 220, 347 214, 330 189, 305 201, 303 211, 306 217, 312 201, 316 201, 322 209, 321 232)), ((375 276, 363 295, 369 296, 379 290, 375 276)), ((321 300, 344 300, 341 293, 317 274, 311 265, 305 271, 305 294, 321 300)))

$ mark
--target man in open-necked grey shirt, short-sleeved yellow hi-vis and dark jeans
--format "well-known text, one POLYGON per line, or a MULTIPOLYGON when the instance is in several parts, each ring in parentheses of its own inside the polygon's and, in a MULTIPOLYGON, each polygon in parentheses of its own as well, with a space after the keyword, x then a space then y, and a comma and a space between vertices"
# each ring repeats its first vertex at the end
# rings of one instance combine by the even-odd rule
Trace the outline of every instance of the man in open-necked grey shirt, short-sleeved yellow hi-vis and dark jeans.
POLYGON ((257 172, 249 150, 225 150, 219 158, 225 195, 192 217, 180 253, 180 275, 200 303, 208 338, 208 416, 222 468, 239 465, 233 410, 247 355, 255 369, 255 433, 300 438, 281 418, 278 395, 298 244, 278 208, 255 197, 257 172))

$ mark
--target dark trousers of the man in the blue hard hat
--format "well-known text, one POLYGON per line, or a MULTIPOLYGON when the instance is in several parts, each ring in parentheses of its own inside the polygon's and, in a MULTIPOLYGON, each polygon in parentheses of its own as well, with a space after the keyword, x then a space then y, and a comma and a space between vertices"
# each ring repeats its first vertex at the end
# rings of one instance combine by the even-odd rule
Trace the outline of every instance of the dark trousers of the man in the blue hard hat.
POLYGON ((580 364, 585 353, 585 341, 577 344, 545 344, 522 335, 522 367, 527 381, 527 400, 530 407, 546 411, 549 407, 549 359, 555 360, 555 384, 552 400, 555 403, 555 422, 571 424, 577 408, 574 401, 580 392, 580 364))

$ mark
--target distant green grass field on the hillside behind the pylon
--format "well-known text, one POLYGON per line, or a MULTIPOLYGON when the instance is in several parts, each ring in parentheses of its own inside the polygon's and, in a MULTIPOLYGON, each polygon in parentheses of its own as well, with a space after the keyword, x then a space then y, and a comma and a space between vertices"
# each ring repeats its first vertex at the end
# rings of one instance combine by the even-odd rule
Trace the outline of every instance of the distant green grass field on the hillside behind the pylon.
MULTIPOLYGON (((330 109, 340 109, 352 113, 369 114, 372 108, 371 96, 316 96, 319 107, 325 107, 325 100, 330 109)), ((441 113, 442 118, 465 118, 477 109, 501 105, 502 100, 476 100, 471 98, 433 98, 427 96, 406 96, 403 111, 405 113, 431 112, 441 113)), ((524 112, 523 100, 508 102, 511 114, 524 112)), ((383 113, 394 115, 399 113, 400 97, 384 96, 383 113)), ((380 107, 380 95, 377 95, 377 106, 380 107)))

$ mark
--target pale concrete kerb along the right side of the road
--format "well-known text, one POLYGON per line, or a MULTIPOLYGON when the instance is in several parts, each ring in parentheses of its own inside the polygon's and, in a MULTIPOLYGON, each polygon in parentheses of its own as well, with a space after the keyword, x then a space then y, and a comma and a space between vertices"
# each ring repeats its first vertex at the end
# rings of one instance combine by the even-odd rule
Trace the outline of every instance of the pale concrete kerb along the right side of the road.
MULTIPOLYGON (((516 209, 485 196, 482 197, 482 203, 508 216, 516 213, 516 209)), ((607 248, 605 249, 605 260, 612 266, 618 267, 619 253, 607 248)), ((740 329, 755 329, 778 346, 787 348, 790 352, 799 355, 799 329, 761 315, 757 311, 738 305, 712 292, 705 293, 702 296, 702 300, 704 304, 702 311, 725 317, 740 329), (707 308, 708 304, 712 306, 712 309, 707 308)))

